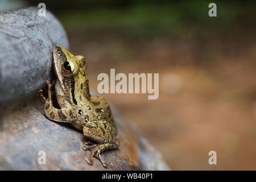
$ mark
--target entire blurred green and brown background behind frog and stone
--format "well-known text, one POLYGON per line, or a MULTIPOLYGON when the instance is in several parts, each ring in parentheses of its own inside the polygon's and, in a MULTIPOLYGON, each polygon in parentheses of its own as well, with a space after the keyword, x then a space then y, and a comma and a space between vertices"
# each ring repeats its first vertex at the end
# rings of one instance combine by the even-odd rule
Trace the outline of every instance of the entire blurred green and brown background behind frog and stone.
POLYGON ((174 170, 256 170, 256 3, 214 1, 1 1, 46 3, 70 51, 99 73, 159 73, 159 98, 98 94, 135 123, 174 170), (209 165, 209 151, 217 165, 209 165))

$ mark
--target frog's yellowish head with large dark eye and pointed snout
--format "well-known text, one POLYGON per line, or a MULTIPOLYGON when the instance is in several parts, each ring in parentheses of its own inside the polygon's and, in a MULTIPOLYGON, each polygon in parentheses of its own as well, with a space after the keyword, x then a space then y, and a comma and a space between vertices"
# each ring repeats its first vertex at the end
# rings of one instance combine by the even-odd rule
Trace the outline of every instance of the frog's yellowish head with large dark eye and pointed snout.
POLYGON ((87 79, 87 62, 83 56, 74 56, 61 46, 53 49, 53 67, 62 90, 75 89, 75 84, 83 84, 87 79))

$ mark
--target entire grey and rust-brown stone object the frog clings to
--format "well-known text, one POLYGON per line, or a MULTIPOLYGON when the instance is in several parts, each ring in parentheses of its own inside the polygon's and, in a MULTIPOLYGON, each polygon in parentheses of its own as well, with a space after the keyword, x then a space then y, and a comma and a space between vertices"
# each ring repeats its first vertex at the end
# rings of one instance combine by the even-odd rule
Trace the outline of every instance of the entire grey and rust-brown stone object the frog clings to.
MULTIPOLYGON (((60 23, 35 8, 0 13, 0 170, 105 170, 85 158, 84 137, 68 123, 50 121, 35 93, 51 78, 52 49, 68 47, 60 23), (13 102, 13 104, 11 104, 13 102), (5 106, 5 108, 3 108, 5 106), (39 153, 46 164, 39 164, 39 153)), ((168 170, 162 156, 116 113, 118 150, 103 152, 109 170, 168 170)))

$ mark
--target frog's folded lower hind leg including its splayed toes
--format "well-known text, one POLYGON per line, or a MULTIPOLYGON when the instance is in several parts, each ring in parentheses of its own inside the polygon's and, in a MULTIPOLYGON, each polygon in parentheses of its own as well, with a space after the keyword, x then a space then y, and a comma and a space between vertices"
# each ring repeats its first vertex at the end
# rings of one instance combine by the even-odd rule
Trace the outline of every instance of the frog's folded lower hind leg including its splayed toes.
POLYGON ((104 143, 104 144, 98 144, 98 146, 94 147, 93 150, 90 152, 89 159, 85 159, 90 165, 92 165, 92 160, 94 155, 100 160, 102 163, 102 166, 105 168, 108 168, 108 164, 105 163, 104 159, 101 157, 101 152, 107 150, 107 149, 114 149, 117 148, 117 144, 114 143, 104 143))

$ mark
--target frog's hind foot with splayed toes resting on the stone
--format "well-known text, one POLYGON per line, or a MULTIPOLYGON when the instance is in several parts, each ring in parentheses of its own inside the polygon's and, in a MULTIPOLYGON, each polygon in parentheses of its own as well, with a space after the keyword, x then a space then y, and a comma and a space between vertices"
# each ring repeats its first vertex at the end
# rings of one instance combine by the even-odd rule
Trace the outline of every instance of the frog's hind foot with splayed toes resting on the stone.
POLYGON ((89 159, 85 159, 88 164, 92 165, 92 160, 94 155, 100 160, 103 167, 108 168, 108 164, 105 163, 104 159, 101 157, 101 152, 109 148, 109 143, 105 144, 96 144, 96 146, 93 148, 93 150, 90 152, 89 159))

